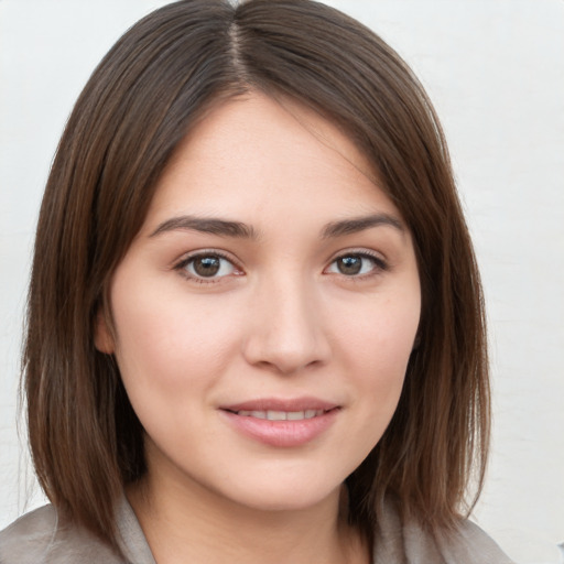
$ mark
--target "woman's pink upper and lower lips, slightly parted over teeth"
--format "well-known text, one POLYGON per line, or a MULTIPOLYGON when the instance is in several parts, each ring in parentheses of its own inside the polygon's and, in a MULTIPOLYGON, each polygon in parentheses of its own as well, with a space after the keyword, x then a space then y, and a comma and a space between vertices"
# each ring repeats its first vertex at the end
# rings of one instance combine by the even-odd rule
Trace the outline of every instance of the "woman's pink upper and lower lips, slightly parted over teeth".
POLYGON ((340 405, 316 398, 264 398, 219 408, 221 415, 238 433, 276 447, 303 446, 314 441, 335 422, 340 405), (310 419, 271 421, 238 412, 323 412, 310 419))

